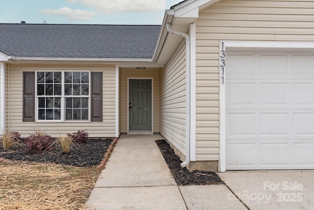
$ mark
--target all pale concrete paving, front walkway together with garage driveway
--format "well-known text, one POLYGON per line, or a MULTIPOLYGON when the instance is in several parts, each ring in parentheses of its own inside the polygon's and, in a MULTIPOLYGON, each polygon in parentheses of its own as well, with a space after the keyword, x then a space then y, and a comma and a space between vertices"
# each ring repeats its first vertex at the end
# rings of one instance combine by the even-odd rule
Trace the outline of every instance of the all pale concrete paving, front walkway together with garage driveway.
POLYGON ((178 186, 158 139, 122 135, 86 210, 314 210, 313 170, 225 172, 226 185, 178 186))

